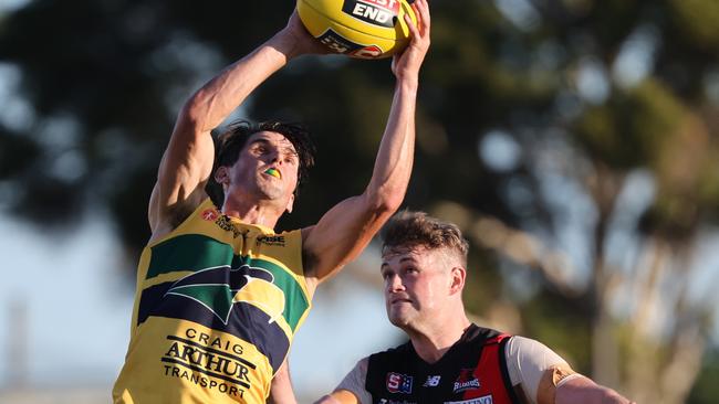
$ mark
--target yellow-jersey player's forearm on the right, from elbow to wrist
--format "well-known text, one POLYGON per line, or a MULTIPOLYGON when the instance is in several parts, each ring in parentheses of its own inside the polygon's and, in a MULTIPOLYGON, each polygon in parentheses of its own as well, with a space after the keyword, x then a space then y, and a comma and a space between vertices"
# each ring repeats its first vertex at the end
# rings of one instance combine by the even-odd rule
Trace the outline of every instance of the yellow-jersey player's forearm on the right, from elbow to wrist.
POLYGON ((411 174, 416 98, 417 79, 399 79, 367 188, 371 203, 390 211, 402 204, 411 174))

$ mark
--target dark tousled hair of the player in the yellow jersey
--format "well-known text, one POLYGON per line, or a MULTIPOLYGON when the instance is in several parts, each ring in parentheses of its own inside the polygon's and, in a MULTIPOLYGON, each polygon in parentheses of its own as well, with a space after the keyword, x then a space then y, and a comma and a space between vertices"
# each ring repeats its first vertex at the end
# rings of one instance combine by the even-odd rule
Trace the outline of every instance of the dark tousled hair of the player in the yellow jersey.
MULTIPOLYGON (((300 163, 298 168, 298 189, 306 181, 310 169, 314 166, 316 148, 310 137, 310 130, 304 125, 280 120, 265 120, 257 124, 243 119, 236 120, 228 125, 217 136, 216 140, 215 167, 207 189, 216 205, 220 206, 222 204, 223 195, 221 187, 215 182, 215 171, 219 167, 235 164, 240 158, 240 151, 247 145, 248 139, 261 131, 273 131, 290 140, 298 152, 300 163)), ((294 190, 295 195, 298 189, 294 190)))

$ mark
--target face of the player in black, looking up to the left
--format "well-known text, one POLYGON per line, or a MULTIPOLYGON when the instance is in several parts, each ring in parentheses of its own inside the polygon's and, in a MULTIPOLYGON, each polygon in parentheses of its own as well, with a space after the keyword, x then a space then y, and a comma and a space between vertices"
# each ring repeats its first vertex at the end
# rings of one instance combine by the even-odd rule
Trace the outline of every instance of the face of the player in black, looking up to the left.
POLYGON ((383 255, 382 277, 389 322, 418 329, 447 305, 450 268, 440 249, 417 247, 383 255))

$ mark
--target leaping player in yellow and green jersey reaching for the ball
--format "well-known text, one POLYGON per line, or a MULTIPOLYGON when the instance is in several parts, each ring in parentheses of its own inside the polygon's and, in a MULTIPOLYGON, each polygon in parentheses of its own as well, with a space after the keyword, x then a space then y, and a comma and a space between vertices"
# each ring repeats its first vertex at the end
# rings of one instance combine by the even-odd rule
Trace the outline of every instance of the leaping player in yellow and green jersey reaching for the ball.
POLYGON ((301 128, 230 126, 218 161, 210 135, 292 59, 325 53, 296 12, 185 103, 149 201, 152 237, 138 265, 116 403, 294 401, 282 363, 314 289, 362 252, 405 196, 418 73, 429 47, 427 1, 413 7, 418 24, 392 64, 395 93, 372 179, 314 225, 272 231, 292 211, 313 162, 301 128), (222 189, 217 205, 206 191, 210 179, 222 189))

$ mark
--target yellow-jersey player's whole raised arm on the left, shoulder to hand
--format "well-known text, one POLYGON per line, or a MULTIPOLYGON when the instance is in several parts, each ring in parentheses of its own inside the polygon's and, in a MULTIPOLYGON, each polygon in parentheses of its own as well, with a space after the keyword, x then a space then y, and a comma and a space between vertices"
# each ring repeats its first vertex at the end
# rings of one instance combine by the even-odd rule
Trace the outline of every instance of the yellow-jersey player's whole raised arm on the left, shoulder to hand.
POLYGON ((154 237, 170 231, 206 196, 204 188, 215 157, 210 130, 289 60, 323 52, 295 12, 283 30, 189 97, 177 117, 150 198, 148 219, 154 237))

